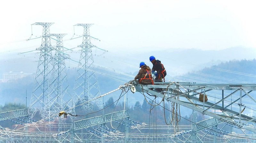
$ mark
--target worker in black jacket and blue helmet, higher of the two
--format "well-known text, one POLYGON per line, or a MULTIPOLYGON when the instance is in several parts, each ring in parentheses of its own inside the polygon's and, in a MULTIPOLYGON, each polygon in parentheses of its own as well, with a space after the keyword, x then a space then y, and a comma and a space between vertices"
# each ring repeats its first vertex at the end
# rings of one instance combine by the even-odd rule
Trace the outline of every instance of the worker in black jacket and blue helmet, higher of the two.
POLYGON ((153 64, 152 73, 154 73, 155 71, 157 72, 155 82, 162 82, 162 79, 164 79, 164 77, 166 76, 164 65, 161 63, 161 61, 156 60, 154 56, 150 56, 149 61, 151 61, 151 63, 153 64))

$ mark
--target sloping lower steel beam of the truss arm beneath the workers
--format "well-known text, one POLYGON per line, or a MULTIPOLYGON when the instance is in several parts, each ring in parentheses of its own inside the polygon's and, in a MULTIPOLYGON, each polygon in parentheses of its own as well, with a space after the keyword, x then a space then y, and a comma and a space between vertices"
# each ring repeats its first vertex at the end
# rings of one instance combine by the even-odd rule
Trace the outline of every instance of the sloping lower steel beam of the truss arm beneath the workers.
MULTIPOLYGON (((209 112, 209 111, 204 111, 204 110, 201 109, 201 108, 198 108, 198 107, 193 106, 193 105, 186 104, 186 103, 184 103, 184 102, 182 102, 182 101, 180 101, 180 100, 176 100, 176 99, 173 99, 173 98, 169 98, 169 99, 168 99, 168 96, 165 96, 165 95, 163 95, 163 94, 161 94, 161 93, 158 93, 158 92, 156 92, 156 91, 153 91, 153 90, 149 90, 148 88, 149 88, 149 87, 151 88, 152 85, 150 85, 150 86, 143 85, 143 87, 142 87, 142 85, 140 85, 140 84, 133 84, 133 85, 134 85, 136 91, 151 93, 151 94, 153 94, 153 95, 156 95, 157 97, 164 98, 164 99, 167 100, 167 101, 171 101, 171 102, 180 104, 180 105, 182 105, 182 106, 184 106, 184 107, 190 108, 190 109, 192 109, 192 110, 201 112, 201 113, 203 113, 203 114, 205 114, 205 115, 208 115, 208 116, 211 116, 211 117, 213 117, 213 118, 219 119, 220 121, 229 123, 229 124, 231 124, 231 125, 236 125, 237 127, 244 128, 244 129, 249 130, 249 131, 252 131, 252 132, 256 132, 256 129, 253 129, 253 128, 251 128, 251 127, 248 127, 248 126, 244 125, 244 124, 241 123, 241 122, 240 122, 240 123, 239 123, 239 122, 237 123, 237 122, 235 122, 235 121, 232 121, 230 118, 221 117, 221 116, 218 115, 218 114, 214 114, 214 113, 209 112)), ((158 86, 161 86, 161 85, 158 85, 158 86)), ((161 88, 161 87, 159 87, 159 88, 161 88)), ((240 87, 239 87, 239 88, 240 88, 240 87)), ((188 88, 186 88, 186 89, 188 89, 188 88)))

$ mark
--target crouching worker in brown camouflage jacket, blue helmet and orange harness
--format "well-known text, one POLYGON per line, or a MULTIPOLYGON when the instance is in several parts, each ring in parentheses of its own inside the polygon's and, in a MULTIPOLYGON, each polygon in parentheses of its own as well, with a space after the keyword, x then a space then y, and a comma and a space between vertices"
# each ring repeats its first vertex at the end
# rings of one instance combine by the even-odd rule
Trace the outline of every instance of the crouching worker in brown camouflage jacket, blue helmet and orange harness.
POLYGON ((151 72, 151 69, 142 61, 140 62, 140 71, 134 79, 138 79, 139 83, 143 85, 154 84, 151 72))

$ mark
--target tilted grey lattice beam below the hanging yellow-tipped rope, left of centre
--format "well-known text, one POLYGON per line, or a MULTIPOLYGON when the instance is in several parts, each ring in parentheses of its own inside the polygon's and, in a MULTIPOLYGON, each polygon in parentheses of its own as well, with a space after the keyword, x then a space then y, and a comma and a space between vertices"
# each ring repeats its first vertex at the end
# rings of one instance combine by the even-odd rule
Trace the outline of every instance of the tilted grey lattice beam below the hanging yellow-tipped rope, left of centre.
POLYGON ((114 121, 117 119, 122 119, 122 118, 127 118, 127 117, 129 117, 129 115, 128 115, 127 111, 125 110, 125 111, 118 111, 118 112, 106 114, 104 117, 98 116, 98 117, 87 118, 87 119, 83 119, 83 120, 74 122, 75 130, 87 128, 87 127, 90 127, 93 125, 100 125, 103 123, 107 123, 107 122, 110 122, 111 119, 112 119, 112 121, 114 121))

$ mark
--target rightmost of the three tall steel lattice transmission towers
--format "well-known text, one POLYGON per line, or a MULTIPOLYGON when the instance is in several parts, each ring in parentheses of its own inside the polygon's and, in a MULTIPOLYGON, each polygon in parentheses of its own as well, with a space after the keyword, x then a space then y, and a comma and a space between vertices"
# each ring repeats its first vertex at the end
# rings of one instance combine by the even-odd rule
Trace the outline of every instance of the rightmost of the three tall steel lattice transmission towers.
POLYGON ((81 103, 86 102, 82 106, 84 111, 90 111, 95 106, 98 106, 100 109, 103 107, 101 98, 88 102, 92 98, 100 96, 99 83, 93 65, 92 47, 96 46, 91 43, 89 30, 91 25, 92 24, 74 25, 84 27, 83 43, 78 45, 78 47, 81 47, 81 55, 74 86, 74 93, 77 95, 78 100, 80 100, 81 103))

